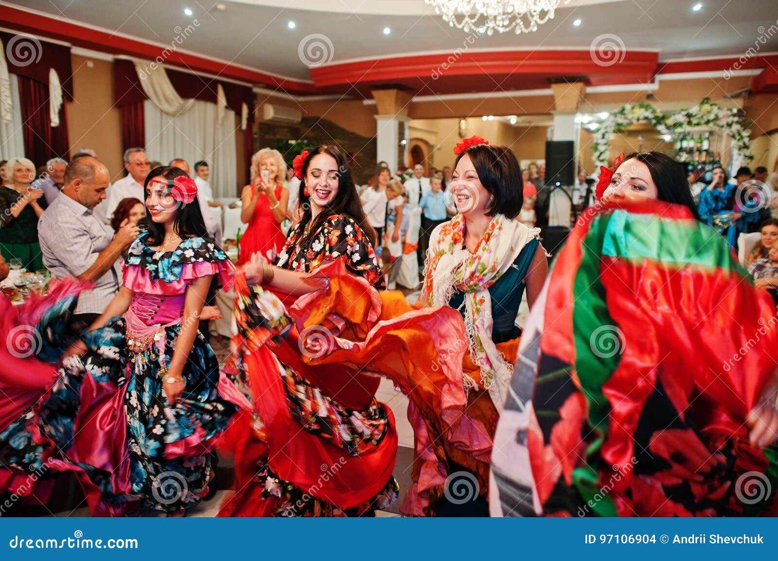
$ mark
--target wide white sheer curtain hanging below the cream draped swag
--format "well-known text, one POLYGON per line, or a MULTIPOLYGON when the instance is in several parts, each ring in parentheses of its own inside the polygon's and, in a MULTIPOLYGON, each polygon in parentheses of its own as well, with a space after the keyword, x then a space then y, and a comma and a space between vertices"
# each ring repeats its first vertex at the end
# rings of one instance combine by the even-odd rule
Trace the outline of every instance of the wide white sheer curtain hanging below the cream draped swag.
POLYGON ((235 114, 227 112, 219 124, 216 103, 194 100, 191 109, 170 117, 148 99, 145 113, 146 155, 149 160, 167 164, 183 158, 194 173, 195 162, 205 160, 211 169, 213 197, 235 197, 237 189, 237 155, 235 149, 235 114))

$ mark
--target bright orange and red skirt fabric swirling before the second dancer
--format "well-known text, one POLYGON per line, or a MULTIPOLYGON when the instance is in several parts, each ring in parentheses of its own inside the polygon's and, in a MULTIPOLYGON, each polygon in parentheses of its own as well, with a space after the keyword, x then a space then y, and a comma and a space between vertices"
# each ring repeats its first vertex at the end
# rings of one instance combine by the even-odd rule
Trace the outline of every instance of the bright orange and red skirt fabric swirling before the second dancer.
MULTIPOLYGON (((254 416, 244 416, 223 439, 224 448, 235 453, 237 491, 219 516, 272 515, 275 497, 259 497, 261 488, 254 481, 265 463, 282 480, 342 510, 370 501, 391 477, 397 451, 391 411, 383 440, 366 453, 349 455, 303 430, 289 413, 279 375, 283 366, 356 410, 370 406, 384 376, 436 417, 435 426, 447 436, 468 426, 461 371, 467 339, 458 312, 414 309, 400 292, 379 292, 349 274, 341 260, 322 265, 314 276, 328 279, 328 287, 296 299, 279 294, 296 325, 283 340, 275 343, 274 334, 266 333, 247 344, 238 336, 254 416), (312 348, 315 353, 303 352, 312 348), (336 472, 333 465, 338 465, 336 472)), ((235 290, 239 298, 249 290, 240 276, 235 290)), ((436 470, 445 473, 445 466, 436 462, 436 470)))

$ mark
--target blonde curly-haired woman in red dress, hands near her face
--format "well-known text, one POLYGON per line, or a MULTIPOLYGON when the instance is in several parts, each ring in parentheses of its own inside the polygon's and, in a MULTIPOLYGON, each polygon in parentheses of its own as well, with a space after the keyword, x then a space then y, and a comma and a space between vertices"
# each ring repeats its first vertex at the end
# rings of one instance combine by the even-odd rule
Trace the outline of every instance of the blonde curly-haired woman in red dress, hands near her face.
POLYGON ((262 148, 251 157, 251 184, 240 193, 240 221, 248 227, 240 238, 239 265, 248 263, 254 253, 272 262, 284 246, 286 235, 281 223, 289 204, 284 179, 286 162, 281 152, 262 148))

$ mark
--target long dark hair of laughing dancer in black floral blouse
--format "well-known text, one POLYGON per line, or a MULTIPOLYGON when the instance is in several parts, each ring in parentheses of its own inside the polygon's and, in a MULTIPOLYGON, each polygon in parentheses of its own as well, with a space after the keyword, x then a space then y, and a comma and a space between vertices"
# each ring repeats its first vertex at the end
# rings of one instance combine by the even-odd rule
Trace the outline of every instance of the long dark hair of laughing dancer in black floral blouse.
POLYGON ((308 235, 304 235, 303 238, 300 239, 300 247, 307 246, 311 237, 324 225, 324 222, 326 222, 332 214, 345 214, 346 216, 353 218, 356 225, 365 233, 367 239, 370 239, 370 243, 375 246, 377 241, 376 231, 373 230, 373 226, 367 222, 365 211, 363 211, 362 208, 362 201, 359 200, 359 193, 354 184, 354 178, 351 175, 349 166, 346 165, 345 153, 335 145, 321 145, 318 148, 311 149, 305 162, 303 162, 303 180, 300 181, 300 205, 303 207, 303 218, 300 219, 300 224, 297 225, 297 229, 300 232, 305 232, 305 228, 311 220, 310 197, 305 195, 305 176, 308 173, 310 161, 318 154, 331 155, 335 159, 335 162, 337 162, 338 174, 340 176, 338 179, 338 194, 335 195, 335 199, 332 200, 331 204, 328 204, 326 208, 321 209, 321 212, 314 219, 313 224, 311 224, 308 235))

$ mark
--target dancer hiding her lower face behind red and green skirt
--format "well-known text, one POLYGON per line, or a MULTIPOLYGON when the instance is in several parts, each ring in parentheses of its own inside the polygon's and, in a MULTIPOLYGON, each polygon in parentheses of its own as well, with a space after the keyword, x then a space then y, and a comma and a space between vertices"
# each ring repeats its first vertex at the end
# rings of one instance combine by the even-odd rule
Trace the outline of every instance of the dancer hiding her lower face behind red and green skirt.
POLYGON ((492 515, 774 515, 772 300, 667 156, 628 156, 598 195, 524 331, 492 515))

